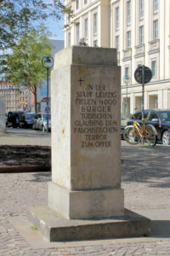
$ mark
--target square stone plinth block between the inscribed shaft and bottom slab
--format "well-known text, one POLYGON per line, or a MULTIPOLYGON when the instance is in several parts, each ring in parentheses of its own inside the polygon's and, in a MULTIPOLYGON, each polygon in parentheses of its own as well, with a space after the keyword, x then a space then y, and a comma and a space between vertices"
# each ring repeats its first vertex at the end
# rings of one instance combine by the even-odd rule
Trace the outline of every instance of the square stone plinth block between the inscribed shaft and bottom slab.
POLYGON ((124 215, 123 189, 71 191, 48 183, 48 206, 65 218, 110 218, 124 215))

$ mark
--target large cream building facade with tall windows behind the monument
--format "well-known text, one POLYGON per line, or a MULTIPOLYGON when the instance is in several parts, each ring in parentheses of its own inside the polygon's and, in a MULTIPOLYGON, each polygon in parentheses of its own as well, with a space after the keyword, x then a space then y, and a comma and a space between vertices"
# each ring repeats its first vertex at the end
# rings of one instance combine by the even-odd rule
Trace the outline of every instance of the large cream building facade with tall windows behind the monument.
POLYGON ((141 108, 142 85, 137 67, 150 67, 153 77, 144 85, 144 108, 170 108, 170 1, 65 0, 74 18, 65 15, 65 47, 78 45, 117 49, 122 67, 122 113, 141 108), (129 76, 126 84, 124 77, 129 76))

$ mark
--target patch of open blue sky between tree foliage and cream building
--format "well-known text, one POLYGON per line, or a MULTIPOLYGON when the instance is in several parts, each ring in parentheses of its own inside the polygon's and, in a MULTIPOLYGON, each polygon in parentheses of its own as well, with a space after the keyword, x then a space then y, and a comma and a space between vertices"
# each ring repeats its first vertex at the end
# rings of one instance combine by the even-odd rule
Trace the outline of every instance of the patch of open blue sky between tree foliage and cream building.
POLYGON ((54 36, 50 39, 55 40, 64 40, 64 16, 62 16, 61 20, 48 19, 45 23, 45 26, 48 27, 48 30, 54 34, 54 36))

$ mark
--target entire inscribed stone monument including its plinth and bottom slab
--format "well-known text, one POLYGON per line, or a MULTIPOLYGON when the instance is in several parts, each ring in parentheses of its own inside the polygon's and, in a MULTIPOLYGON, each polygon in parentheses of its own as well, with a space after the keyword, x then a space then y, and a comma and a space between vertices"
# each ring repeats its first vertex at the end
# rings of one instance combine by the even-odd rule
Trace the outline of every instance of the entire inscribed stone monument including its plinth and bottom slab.
POLYGON ((52 182, 48 206, 29 212, 49 241, 150 233, 150 220, 124 209, 120 116, 116 49, 73 46, 55 55, 52 182))

